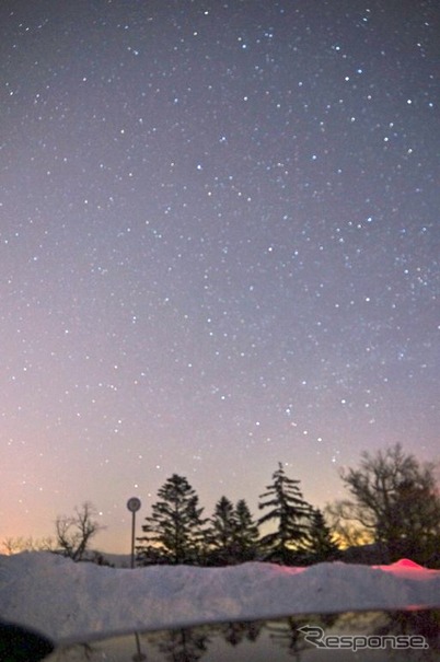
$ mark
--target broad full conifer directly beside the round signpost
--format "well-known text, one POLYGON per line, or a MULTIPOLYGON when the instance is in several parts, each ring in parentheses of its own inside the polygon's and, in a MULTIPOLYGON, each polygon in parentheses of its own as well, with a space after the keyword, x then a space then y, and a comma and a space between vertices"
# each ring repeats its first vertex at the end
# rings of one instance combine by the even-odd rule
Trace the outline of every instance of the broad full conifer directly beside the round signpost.
POLYGON ((155 561, 171 564, 194 562, 198 559, 202 539, 202 508, 198 496, 187 479, 177 474, 159 489, 161 499, 152 506, 152 515, 146 518, 142 531, 147 534, 137 538, 139 560, 146 561, 153 555, 155 561))

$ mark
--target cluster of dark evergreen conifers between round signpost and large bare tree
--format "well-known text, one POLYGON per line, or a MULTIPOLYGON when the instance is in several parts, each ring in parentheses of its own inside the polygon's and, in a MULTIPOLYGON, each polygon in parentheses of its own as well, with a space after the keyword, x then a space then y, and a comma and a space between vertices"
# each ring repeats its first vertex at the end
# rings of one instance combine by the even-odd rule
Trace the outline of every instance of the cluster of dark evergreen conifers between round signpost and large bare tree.
POLYGON ((308 503, 299 480, 289 478, 281 463, 260 496, 265 514, 254 520, 245 499, 235 504, 222 496, 210 518, 184 476, 173 474, 159 489, 159 500, 138 537, 137 561, 224 566, 250 560, 304 565, 338 557, 324 516, 308 503), (260 535, 259 527, 275 522, 260 535))

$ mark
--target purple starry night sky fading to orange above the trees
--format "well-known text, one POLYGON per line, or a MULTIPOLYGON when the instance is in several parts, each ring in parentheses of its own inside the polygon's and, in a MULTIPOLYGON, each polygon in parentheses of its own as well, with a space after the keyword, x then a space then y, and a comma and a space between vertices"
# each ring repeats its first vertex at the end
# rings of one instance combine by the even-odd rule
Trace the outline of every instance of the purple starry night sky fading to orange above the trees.
POLYGON ((4 0, 0 538, 439 460, 437 0, 4 0))

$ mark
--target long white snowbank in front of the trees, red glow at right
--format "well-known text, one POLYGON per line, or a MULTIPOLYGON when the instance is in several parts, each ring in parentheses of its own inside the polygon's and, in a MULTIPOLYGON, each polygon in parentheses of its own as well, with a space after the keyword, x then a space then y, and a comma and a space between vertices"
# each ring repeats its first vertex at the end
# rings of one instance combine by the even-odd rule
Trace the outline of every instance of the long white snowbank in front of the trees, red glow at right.
POLYGON ((298 613, 440 606, 440 571, 412 561, 114 569, 50 553, 0 556, 0 619, 56 641, 298 613))

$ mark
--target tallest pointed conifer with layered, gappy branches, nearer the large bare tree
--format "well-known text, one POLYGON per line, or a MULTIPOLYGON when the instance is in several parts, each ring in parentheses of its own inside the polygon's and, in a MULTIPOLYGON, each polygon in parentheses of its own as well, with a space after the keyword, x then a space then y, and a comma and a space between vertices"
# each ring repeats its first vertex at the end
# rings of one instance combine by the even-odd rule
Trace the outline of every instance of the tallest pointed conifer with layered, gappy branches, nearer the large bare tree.
POLYGON ((260 539, 262 546, 267 549, 266 560, 285 565, 298 561, 308 543, 312 507, 304 501, 299 484, 299 480, 286 476, 279 463, 273 474, 273 483, 259 496, 264 500, 258 508, 270 510, 258 520, 258 524, 273 520, 277 522, 276 531, 260 539))

